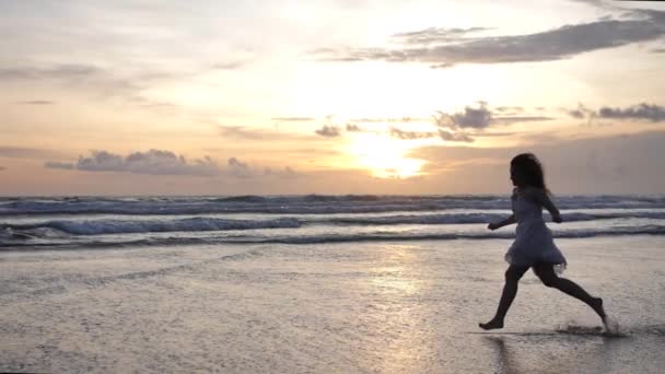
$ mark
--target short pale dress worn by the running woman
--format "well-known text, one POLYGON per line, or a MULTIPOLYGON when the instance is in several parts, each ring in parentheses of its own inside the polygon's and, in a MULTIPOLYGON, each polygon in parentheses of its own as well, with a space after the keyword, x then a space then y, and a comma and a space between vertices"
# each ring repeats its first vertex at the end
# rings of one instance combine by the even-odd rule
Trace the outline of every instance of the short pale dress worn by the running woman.
POLYGON ((555 245, 551 231, 545 225, 542 207, 525 198, 524 192, 516 188, 511 202, 517 229, 515 242, 505 254, 505 260, 525 267, 548 262, 555 265, 557 272, 563 271, 565 258, 555 245))

